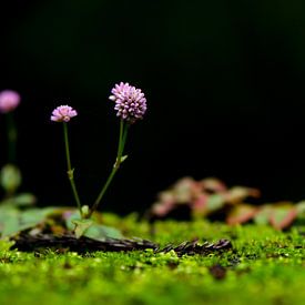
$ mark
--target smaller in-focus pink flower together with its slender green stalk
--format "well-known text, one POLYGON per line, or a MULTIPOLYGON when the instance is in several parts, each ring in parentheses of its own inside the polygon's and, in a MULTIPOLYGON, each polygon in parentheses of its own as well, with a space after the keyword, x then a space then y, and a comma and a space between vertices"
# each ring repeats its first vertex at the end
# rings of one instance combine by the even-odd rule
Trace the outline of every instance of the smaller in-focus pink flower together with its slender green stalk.
POLYGON ((78 115, 78 112, 75 110, 73 110, 71 106, 61 105, 53 110, 52 115, 51 115, 51 121, 63 123, 63 140, 64 140, 65 157, 67 157, 67 166, 68 166, 67 173, 68 173, 68 177, 69 177, 69 181, 71 184, 74 200, 77 202, 80 214, 83 217, 82 205, 81 205, 80 196, 79 196, 78 189, 77 189, 77 185, 74 182, 74 169, 72 169, 72 165, 71 165, 69 136, 68 136, 68 122, 70 122, 70 120, 77 115, 78 115))

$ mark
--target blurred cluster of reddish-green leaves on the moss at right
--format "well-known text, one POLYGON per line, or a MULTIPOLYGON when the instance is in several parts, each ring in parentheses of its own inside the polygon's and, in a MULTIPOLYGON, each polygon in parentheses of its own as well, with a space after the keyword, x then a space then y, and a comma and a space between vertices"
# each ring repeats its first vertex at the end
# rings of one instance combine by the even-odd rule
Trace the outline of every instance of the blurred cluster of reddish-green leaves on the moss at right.
POLYGON ((305 201, 295 205, 291 202, 281 202, 255 206, 245 204, 248 197, 257 199, 261 192, 257 189, 234 186, 226 187, 216 179, 195 181, 192 177, 179 180, 173 186, 161 192, 157 202, 152 206, 152 216, 166 216, 179 205, 187 205, 193 217, 204 217, 216 211, 226 214, 227 223, 245 223, 254 220, 257 224, 271 224, 282 230, 287 227, 297 217, 305 218, 305 201))

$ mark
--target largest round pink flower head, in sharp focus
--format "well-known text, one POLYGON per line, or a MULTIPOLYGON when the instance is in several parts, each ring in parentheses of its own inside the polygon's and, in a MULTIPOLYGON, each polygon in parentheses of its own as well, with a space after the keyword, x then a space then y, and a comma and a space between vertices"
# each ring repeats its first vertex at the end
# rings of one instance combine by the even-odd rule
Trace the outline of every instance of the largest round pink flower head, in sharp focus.
POLYGON ((115 84, 111 93, 112 95, 109 99, 115 102, 114 110, 118 111, 118 116, 121 116, 121 119, 129 123, 143 119, 146 112, 146 99, 141 89, 136 89, 128 82, 121 82, 120 84, 115 84))

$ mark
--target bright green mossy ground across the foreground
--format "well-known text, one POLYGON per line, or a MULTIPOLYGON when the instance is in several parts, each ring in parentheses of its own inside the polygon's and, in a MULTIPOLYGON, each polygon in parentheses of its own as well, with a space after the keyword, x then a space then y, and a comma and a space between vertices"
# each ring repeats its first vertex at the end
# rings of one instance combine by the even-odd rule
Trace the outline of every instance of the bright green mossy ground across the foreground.
POLYGON ((166 221, 156 223, 152 235, 150 225, 133 216, 109 215, 106 222, 129 237, 161 245, 224 237, 233 250, 183 257, 0 250, 0 304, 304 304, 304 226, 283 233, 251 224, 166 221))

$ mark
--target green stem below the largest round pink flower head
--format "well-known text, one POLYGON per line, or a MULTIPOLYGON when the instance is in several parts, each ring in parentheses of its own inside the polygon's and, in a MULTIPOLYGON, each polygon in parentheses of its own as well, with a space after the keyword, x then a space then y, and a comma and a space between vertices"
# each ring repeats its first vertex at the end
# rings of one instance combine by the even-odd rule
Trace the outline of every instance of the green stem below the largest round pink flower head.
POLYGON ((128 130, 129 130, 129 124, 125 124, 124 121, 121 120, 121 122, 120 122, 119 145, 118 145, 118 153, 116 153, 115 163, 112 167, 112 171, 111 171, 110 175, 108 176, 108 180, 106 180, 105 184, 103 185, 100 194, 98 195, 94 204, 90 209, 90 212, 88 214, 88 218, 90 218, 91 215, 98 210, 99 204, 100 204, 101 200, 103 199, 110 183, 112 182, 114 175, 116 174, 118 170, 120 169, 120 165, 122 163, 122 155, 123 155, 123 152, 124 152, 125 142, 126 142, 126 138, 128 138, 128 130))

